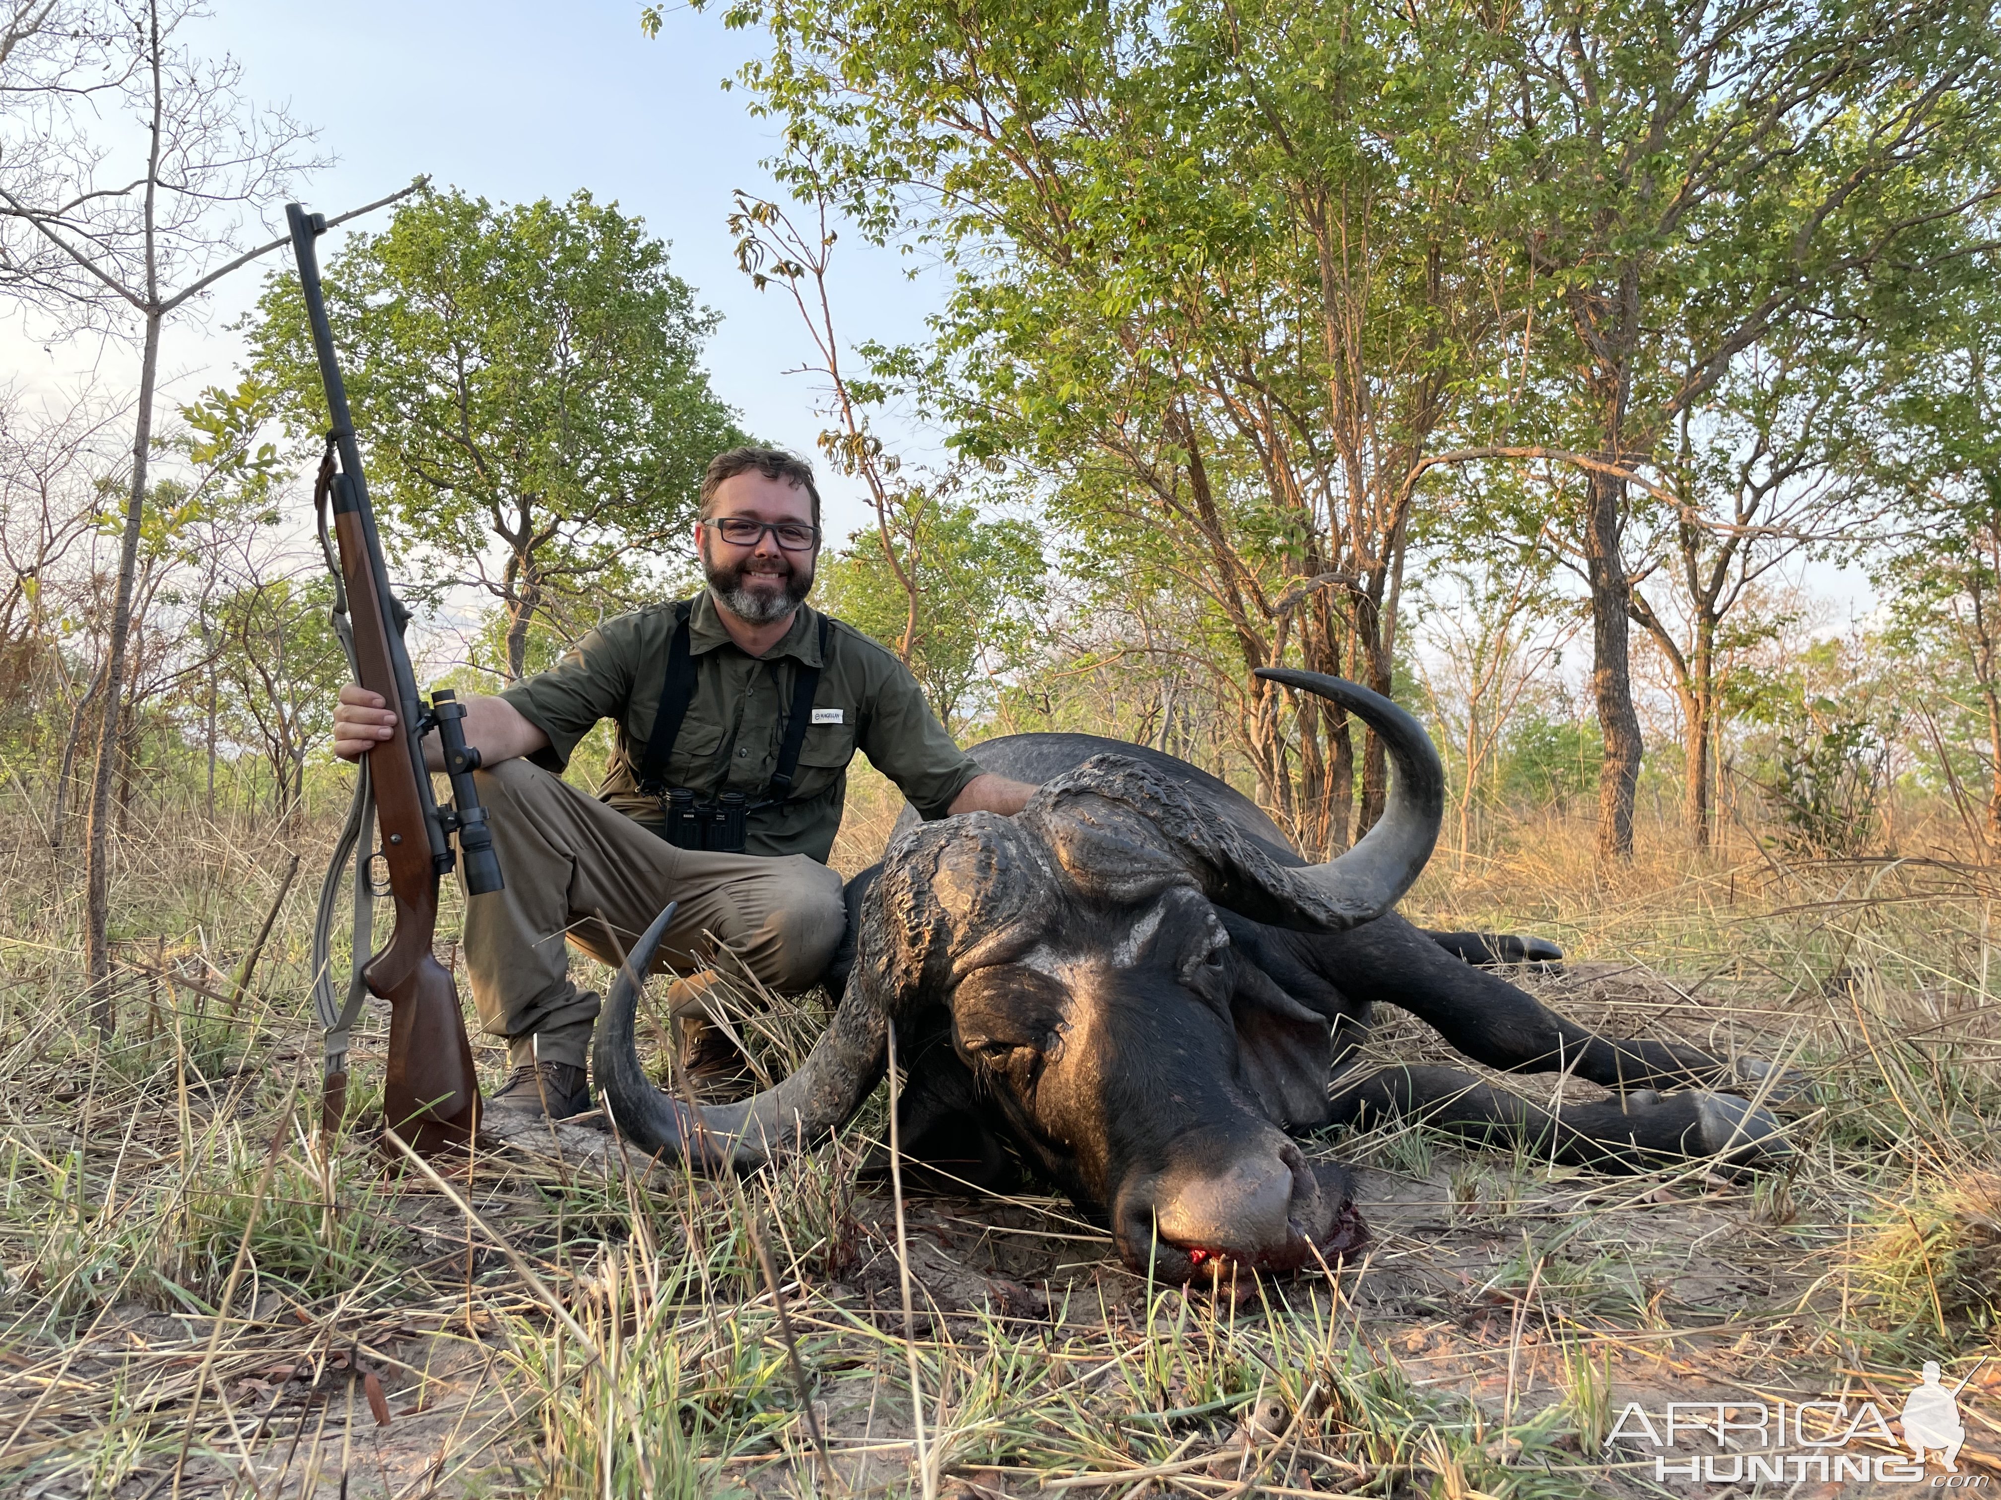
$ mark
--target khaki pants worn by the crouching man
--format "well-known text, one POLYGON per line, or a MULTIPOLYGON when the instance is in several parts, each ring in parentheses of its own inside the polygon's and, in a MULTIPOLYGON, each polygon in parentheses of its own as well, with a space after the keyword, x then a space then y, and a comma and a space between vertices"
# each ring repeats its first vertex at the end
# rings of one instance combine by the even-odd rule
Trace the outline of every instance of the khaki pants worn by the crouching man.
POLYGON ((668 902, 680 910, 654 972, 708 968, 722 944, 760 982, 796 994, 840 944, 840 876, 804 854, 674 848, 526 760, 476 780, 506 888, 466 898, 466 974, 480 1024, 508 1040, 514 1062, 532 1050, 542 1062, 584 1066, 598 996, 570 982, 564 940, 616 964, 668 902))

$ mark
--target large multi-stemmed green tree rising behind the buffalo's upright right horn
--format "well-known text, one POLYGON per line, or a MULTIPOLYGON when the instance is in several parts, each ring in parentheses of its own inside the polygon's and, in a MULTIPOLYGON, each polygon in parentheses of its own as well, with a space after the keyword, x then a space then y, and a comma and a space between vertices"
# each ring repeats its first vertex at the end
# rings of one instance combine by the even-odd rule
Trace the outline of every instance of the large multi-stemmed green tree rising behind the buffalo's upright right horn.
MULTIPOLYGON (((658 18, 654 18, 658 20, 658 18)), ((1253 672, 1389 690, 1419 484, 1507 338, 1489 122, 1455 6, 806 0, 746 70, 802 198, 954 270, 882 352, 968 458, 1043 482, 1113 598, 1181 594, 1259 794, 1307 848, 1385 790, 1347 718, 1253 672)))

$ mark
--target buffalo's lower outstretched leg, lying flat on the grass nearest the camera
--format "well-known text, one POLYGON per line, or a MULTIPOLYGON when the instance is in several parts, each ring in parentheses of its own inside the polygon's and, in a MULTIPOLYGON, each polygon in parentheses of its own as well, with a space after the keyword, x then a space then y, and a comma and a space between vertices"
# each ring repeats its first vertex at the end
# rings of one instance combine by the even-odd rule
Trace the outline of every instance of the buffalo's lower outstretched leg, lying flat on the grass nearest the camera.
POLYGON ((1643 1172, 1719 1156, 1767 1164, 1791 1148, 1779 1122, 1731 1094, 1629 1094, 1545 1110, 1457 1068, 1397 1066, 1335 1078, 1337 1124, 1413 1118, 1475 1144, 1525 1146, 1567 1166, 1643 1172))

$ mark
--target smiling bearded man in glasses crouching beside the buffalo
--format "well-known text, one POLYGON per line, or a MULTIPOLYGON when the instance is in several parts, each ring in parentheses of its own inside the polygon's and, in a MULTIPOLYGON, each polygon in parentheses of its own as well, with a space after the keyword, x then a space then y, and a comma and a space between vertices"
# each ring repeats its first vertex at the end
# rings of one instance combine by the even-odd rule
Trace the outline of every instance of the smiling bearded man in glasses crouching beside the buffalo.
MULTIPOLYGON (((1035 790, 980 772, 902 662, 806 606, 818 548, 810 464, 718 454, 694 524, 702 594, 606 620, 548 672, 464 700, 506 878, 466 898, 472 1002, 508 1044, 488 1108, 590 1108, 598 996, 570 982, 566 942, 616 964, 668 902, 680 906, 660 966, 684 976, 668 996, 682 1066, 706 1100, 738 1090, 744 1062, 706 1014, 708 986, 686 976, 726 952, 780 994, 818 982, 846 924, 826 856, 856 750, 924 818, 1013 814, 1035 790), (616 748, 592 800, 560 772, 602 718, 616 748)), ((356 760, 394 724, 380 696, 346 686, 334 754, 356 760)), ((436 734, 424 758, 442 768, 436 734)))

